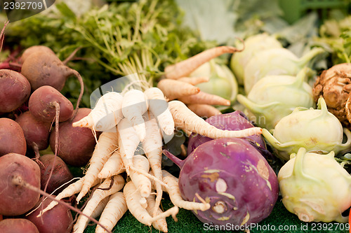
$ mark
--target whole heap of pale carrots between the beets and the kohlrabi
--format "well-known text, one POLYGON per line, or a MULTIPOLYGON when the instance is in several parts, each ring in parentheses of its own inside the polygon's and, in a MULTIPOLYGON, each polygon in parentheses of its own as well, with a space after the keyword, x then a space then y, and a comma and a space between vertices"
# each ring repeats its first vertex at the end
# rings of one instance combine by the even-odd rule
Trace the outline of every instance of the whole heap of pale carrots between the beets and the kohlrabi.
MULTIPOLYGON (((80 202, 92 191, 82 211, 84 215, 79 215, 73 227, 74 232, 84 232, 88 216, 100 216, 96 232, 111 232, 127 210, 140 223, 167 232, 166 217, 173 216, 176 220, 178 208, 201 211, 210 208, 199 195, 194 202, 185 201, 180 195, 178 178, 161 169, 162 140, 164 135, 174 134, 175 129, 213 139, 261 133, 259 127, 238 131, 218 129, 190 109, 194 105, 229 104, 226 99, 201 92, 194 86, 207 78, 186 76, 213 57, 235 51, 236 48, 220 46, 168 66, 157 87, 107 92, 89 115, 72 123, 74 127, 88 127, 94 134, 102 132, 84 177, 55 197, 60 200, 78 194, 76 200, 80 202), (135 155, 140 148, 145 156, 135 155), (124 172, 126 179, 122 176, 124 172), (163 192, 168 193, 174 204, 165 212, 159 208, 163 192)), ((51 202, 41 214, 56 204, 51 202)))

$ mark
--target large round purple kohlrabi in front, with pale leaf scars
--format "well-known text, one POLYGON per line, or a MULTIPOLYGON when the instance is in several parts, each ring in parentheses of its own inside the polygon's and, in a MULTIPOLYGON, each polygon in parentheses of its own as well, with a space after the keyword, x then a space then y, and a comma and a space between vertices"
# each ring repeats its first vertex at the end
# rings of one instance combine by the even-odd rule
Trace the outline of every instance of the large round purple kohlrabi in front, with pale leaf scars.
POLYGON ((267 160, 244 139, 214 139, 188 155, 180 171, 183 199, 211 204, 194 211, 201 222, 213 225, 250 225, 272 212, 278 180, 267 160))

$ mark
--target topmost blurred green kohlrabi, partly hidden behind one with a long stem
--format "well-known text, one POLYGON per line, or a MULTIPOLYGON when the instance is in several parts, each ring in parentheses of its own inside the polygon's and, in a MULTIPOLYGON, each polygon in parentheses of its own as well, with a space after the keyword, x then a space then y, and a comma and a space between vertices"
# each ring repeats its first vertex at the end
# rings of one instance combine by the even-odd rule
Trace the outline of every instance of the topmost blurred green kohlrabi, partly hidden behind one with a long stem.
MULTIPOLYGON (((239 43, 236 45, 239 47, 239 43)), ((241 52, 235 52, 230 59, 230 69, 234 72, 234 76, 237 78, 239 84, 244 84, 244 69, 246 64, 249 62, 251 57, 262 50, 270 48, 282 48, 282 44, 274 36, 270 36, 267 33, 256 34, 249 36, 244 41, 244 50, 241 52)))

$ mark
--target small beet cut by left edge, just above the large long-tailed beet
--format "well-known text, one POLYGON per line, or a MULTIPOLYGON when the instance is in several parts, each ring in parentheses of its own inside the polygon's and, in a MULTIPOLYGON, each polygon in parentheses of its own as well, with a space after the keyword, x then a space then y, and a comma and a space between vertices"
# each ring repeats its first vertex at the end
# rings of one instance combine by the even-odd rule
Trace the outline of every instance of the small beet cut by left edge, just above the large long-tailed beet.
POLYGON ((25 134, 20 125, 9 118, 0 118, 0 156, 8 153, 25 155, 26 151, 25 134))

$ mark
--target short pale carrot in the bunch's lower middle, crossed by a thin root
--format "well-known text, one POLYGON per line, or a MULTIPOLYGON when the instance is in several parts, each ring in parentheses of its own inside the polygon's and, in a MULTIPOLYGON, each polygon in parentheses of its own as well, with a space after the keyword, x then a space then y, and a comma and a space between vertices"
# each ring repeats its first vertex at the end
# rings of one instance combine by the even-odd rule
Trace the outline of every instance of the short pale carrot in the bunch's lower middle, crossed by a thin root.
MULTIPOLYGON (((148 173, 150 170, 149 161, 143 155, 134 155, 133 166, 135 168, 135 171, 143 171, 145 173, 148 173)), ((130 171, 131 180, 133 181, 135 188, 137 188, 137 190, 140 192, 141 197, 149 197, 151 193, 150 179, 144 176, 143 174, 140 174, 135 171, 130 171)))

